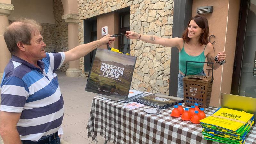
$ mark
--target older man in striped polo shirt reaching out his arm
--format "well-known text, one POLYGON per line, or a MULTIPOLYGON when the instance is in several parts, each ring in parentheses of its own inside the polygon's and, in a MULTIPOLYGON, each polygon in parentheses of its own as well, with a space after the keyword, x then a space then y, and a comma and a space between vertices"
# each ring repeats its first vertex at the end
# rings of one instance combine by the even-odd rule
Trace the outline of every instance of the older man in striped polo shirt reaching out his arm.
POLYGON ((41 26, 34 20, 13 22, 4 39, 12 54, 1 84, 0 134, 4 144, 59 144, 57 130, 64 114, 54 72, 96 47, 112 43, 107 35, 67 52, 45 53, 41 26))

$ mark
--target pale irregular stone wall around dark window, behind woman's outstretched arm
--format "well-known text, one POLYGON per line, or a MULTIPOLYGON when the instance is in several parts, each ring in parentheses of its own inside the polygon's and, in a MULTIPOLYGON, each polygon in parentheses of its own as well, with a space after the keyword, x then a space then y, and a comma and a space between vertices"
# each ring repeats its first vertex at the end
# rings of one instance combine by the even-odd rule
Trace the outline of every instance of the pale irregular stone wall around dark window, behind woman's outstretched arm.
MULTIPOLYGON (((79 41, 83 44, 83 20, 130 7, 132 31, 172 38, 173 0, 78 0, 79 41)), ((131 55, 137 57, 132 89, 151 93, 169 93, 171 48, 131 40, 131 55)), ((80 59, 80 68, 84 60, 80 59)), ((83 69, 82 69, 83 70, 83 69)))

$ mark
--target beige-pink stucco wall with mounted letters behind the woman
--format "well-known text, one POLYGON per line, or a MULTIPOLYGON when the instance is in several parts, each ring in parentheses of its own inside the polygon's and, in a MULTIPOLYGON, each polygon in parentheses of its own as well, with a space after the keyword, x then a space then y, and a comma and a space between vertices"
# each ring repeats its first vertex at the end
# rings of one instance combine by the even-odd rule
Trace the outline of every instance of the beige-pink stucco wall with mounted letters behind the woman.
MULTIPOLYGON (((234 53, 236 48, 236 33, 239 14, 239 0, 209 1, 209 0, 193 0, 192 15, 196 15, 196 8, 201 6, 213 6, 213 13, 204 14, 209 22, 211 42, 215 49, 215 55, 218 52, 225 51, 227 53, 226 63, 214 70, 214 82, 211 95, 211 106, 220 106, 221 92, 230 93, 232 84, 232 72, 234 63, 234 53)), ((207 67, 204 67, 206 70, 207 67)))

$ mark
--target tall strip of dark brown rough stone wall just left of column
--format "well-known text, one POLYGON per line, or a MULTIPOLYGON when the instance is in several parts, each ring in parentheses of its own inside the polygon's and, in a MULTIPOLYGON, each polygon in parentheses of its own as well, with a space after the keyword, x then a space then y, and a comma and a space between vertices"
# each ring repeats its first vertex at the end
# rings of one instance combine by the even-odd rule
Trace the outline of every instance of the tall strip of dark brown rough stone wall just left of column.
MULTIPOLYGON (((53 3, 53 15, 56 26, 56 52, 65 52, 68 51, 68 24, 61 18, 64 12, 61 0, 54 0, 53 3)), ((68 63, 65 63, 58 71, 65 72, 68 67, 68 63)))

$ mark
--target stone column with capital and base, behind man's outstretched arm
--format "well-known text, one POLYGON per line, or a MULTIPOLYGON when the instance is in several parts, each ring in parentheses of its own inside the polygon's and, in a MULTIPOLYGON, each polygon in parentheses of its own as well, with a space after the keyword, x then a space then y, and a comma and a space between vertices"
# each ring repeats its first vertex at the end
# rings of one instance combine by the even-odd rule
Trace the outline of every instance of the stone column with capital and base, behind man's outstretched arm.
MULTIPOLYGON (((78 14, 69 13, 63 15, 62 19, 68 23, 68 50, 79 45, 78 41, 78 23, 79 17, 78 14)), ((69 77, 80 76, 81 70, 79 67, 79 60, 70 61, 69 68, 66 71, 66 75, 69 77)))

